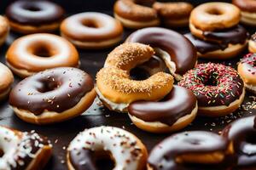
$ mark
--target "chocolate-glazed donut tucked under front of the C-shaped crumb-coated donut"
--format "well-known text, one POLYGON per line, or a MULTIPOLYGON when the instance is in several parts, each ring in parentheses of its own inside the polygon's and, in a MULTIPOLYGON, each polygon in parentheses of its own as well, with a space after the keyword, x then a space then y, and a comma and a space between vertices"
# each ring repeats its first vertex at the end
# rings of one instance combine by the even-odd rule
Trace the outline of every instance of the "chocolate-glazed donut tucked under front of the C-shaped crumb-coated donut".
POLYGON ((131 121, 143 130, 169 133, 188 126, 195 119, 197 100, 189 89, 173 86, 170 94, 160 101, 131 103, 128 113, 131 121))

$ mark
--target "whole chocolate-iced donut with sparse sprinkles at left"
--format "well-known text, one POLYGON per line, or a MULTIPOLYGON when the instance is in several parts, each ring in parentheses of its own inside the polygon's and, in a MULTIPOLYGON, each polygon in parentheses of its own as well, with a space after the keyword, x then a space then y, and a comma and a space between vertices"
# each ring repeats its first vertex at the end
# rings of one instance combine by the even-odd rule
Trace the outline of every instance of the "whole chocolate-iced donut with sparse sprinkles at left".
POLYGON ((79 116, 96 98, 90 75, 73 67, 41 71, 19 82, 9 105, 25 122, 49 124, 79 116))

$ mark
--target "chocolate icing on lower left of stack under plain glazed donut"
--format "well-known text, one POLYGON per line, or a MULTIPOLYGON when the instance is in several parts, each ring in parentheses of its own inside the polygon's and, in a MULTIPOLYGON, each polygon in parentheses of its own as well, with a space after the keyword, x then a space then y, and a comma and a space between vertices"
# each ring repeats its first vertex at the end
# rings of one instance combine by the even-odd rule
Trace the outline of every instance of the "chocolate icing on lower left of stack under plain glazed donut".
POLYGON ((206 54, 208 52, 212 52, 218 49, 224 50, 229 46, 229 44, 203 41, 201 39, 196 38, 191 33, 187 33, 184 36, 187 37, 189 41, 193 43, 197 51, 201 54, 206 54))

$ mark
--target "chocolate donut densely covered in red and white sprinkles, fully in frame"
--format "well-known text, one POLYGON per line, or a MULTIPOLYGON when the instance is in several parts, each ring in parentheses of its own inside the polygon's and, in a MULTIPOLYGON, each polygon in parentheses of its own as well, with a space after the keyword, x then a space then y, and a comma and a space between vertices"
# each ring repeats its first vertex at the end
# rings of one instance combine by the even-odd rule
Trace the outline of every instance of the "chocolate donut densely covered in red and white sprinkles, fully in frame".
POLYGON ((188 71, 179 86, 192 90, 202 116, 225 116, 241 105, 245 89, 241 77, 230 66, 200 64, 188 71))

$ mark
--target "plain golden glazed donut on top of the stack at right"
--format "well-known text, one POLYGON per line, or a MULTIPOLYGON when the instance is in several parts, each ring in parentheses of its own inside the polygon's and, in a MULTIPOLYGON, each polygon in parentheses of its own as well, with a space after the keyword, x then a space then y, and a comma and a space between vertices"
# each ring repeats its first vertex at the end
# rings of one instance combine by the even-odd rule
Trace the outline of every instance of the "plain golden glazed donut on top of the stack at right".
POLYGON ((199 31, 218 31, 236 26, 239 20, 240 9, 235 5, 217 2, 203 3, 191 12, 189 26, 190 30, 193 26, 199 31))

